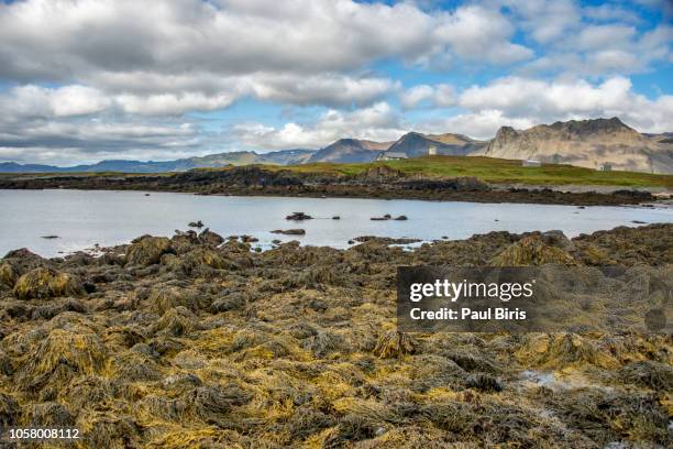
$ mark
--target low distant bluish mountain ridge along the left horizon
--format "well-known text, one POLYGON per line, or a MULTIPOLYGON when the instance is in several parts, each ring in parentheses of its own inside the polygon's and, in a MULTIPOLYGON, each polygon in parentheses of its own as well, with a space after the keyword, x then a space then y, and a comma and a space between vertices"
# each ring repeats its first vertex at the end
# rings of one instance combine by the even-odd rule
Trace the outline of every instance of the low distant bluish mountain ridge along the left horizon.
POLYGON ((141 162, 112 160, 101 161, 91 165, 75 165, 57 167, 55 165, 16 164, 14 162, 0 163, 0 173, 75 173, 75 172, 123 172, 123 173, 163 173, 186 172, 191 168, 214 168, 227 165, 273 164, 290 165, 306 162, 315 150, 283 150, 257 154, 253 151, 238 151, 231 153, 209 154, 163 162, 141 162))

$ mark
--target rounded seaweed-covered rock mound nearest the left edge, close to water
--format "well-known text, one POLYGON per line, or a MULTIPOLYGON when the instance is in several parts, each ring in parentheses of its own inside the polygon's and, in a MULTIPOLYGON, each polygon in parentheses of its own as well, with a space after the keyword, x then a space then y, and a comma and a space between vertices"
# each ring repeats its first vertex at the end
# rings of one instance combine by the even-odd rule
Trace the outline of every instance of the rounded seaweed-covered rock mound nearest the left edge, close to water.
POLYGON ((53 269, 32 270, 16 281, 14 296, 20 299, 84 295, 81 281, 71 274, 53 269))

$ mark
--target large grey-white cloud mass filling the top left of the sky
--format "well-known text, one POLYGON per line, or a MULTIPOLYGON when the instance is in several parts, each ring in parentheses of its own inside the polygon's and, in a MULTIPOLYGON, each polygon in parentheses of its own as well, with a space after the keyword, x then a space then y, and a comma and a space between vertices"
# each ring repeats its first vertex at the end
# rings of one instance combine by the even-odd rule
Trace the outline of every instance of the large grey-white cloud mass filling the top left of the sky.
POLYGON ((27 0, 0 7, 0 77, 310 75, 448 51, 468 58, 478 51, 493 62, 530 56, 511 34, 505 17, 479 7, 430 13, 352 0, 27 0))

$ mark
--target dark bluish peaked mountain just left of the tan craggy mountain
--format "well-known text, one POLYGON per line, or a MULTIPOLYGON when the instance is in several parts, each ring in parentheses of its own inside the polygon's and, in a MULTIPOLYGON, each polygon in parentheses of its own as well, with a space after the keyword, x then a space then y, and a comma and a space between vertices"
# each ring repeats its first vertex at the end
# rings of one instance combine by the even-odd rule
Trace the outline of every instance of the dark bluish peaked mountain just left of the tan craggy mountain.
POLYGON ((408 157, 424 156, 430 147, 437 154, 446 156, 464 156, 482 150, 485 142, 475 141, 462 134, 421 134, 409 132, 395 142, 387 152, 405 153, 408 157))

